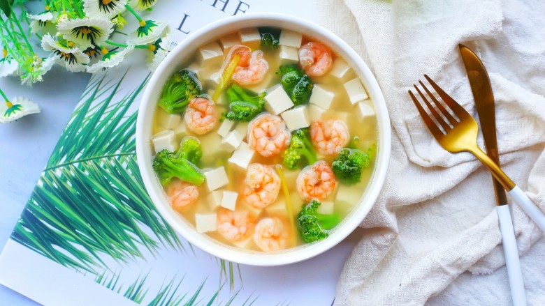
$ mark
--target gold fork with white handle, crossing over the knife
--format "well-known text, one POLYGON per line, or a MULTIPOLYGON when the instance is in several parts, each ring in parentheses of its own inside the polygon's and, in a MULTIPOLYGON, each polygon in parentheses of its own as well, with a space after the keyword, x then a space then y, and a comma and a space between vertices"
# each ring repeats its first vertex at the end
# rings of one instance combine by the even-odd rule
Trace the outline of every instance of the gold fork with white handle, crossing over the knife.
POLYGON ((492 175, 502 184, 503 188, 511 194, 524 211, 530 215, 537 226, 542 229, 542 231, 545 231, 545 214, 537 208, 521 188, 518 188, 518 186, 511 181, 511 178, 509 178, 509 176, 507 176, 507 174, 505 174, 504 171, 502 171, 502 169, 496 165, 495 162, 479 148, 479 146, 477 146, 477 133, 479 132, 477 121, 475 121, 475 119, 458 104, 458 102, 451 98, 450 95, 446 94, 441 87, 435 84, 428 75, 424 75, 424 77, 426 77, 433 89, 435 89, 435 92, 437 92, 437 95, 443 100, 446 107, 449 107, 451 112, 458 117, 455 118, 448 112, 426 85, 419 80, 420 86, 426 91, 428 98, 433 101, 435 107, 428 98, 426 98, 426 94, 424 94, 416 84, 414 85, 414 89, 419 93, 420 97, 430 110, 430 113, 433 115, 433 118, 426 112, 426 109, 424 109, 414 93, 410 90, 409 95, 433 137, 435 137, 437 142, 450 153, 470 152, 475 155, 475 157, 491 171, 492 175), (438 125, 435 122, 437 122, 438 125))

